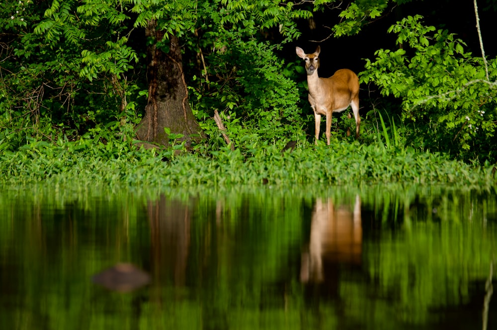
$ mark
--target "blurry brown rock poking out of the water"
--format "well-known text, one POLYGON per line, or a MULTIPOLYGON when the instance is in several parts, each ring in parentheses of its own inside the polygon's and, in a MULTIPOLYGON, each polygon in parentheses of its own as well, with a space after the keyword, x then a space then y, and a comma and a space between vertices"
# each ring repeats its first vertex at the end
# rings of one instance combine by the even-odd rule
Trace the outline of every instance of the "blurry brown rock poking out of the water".
POLYGON ((93 275, 93 283, 109 290, 129 292, 150 282, 150 275, 133 264, 116 264, 93 275))

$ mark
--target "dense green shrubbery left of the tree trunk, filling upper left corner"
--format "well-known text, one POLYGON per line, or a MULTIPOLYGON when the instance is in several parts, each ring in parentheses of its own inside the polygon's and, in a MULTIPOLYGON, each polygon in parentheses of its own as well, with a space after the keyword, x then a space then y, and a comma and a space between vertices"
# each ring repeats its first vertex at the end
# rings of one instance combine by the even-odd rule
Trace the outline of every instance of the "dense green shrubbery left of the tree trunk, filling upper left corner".
POLYGON ((10 36, 2 37, 0 139, 11 149, 28 137, 78 138, 123 114, 135 116, 143 84, 133 80, 143 74, 129 71, 138 58, 125 44, 126 27, 110 24, 110 14, 99 20, 88 10, 78 15, 78 8, 74 1, 27 0, 6 1, 0 9, 11 17, 0 23, 10 36))

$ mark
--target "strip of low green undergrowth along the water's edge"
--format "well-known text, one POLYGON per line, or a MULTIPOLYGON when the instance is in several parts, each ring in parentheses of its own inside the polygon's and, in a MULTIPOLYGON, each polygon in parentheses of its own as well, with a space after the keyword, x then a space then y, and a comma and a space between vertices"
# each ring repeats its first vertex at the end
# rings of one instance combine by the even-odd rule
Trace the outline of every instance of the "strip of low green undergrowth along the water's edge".
POLYGON ((123 141, 81 139, 55 144, 32 141, 0 155, 0 185, 104 185, 119 187, 223 187, 229 185, 453 184, 493 186, 493 166, 451 160, 438 153, 380 144, 339 142, 317 147, 299 141, 290 152, 282 145, 228 147, 176 155, 145 150, 123 141))

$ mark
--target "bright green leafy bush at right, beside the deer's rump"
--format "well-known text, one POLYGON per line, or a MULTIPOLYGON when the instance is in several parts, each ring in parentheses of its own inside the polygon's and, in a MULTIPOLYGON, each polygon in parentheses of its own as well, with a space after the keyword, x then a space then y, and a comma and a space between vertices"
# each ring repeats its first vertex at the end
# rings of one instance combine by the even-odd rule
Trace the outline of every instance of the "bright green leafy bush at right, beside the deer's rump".
POLYGON ((465 53, 462 40, 420 20, 409 16, 389 29, 403 47, 378 50, 361 80, 402 98, 402 119, 418 124, 425 148, 495 162, 497 59, 487 81, 481 58, 465 53))

